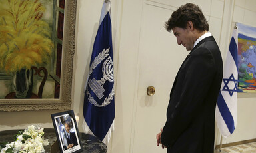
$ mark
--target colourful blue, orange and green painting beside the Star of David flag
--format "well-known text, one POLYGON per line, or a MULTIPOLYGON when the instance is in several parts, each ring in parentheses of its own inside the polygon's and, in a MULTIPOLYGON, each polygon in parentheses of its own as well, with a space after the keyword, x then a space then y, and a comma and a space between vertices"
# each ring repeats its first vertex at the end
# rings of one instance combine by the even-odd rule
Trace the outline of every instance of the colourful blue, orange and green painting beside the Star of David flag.
POLYGON ((256 27, 237 23, 238 92, 256 93, 256 27))

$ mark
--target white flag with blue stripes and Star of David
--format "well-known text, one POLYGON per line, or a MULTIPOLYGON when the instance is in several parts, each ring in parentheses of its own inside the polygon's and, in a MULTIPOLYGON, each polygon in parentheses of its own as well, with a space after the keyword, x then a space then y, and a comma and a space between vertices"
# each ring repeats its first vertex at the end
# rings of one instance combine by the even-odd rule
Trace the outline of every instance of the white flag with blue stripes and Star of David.
POLYGON ((224 138, 230 136, 237 125, 237 29, 233 30, 229 51, 223 72, 221 91, 217 99, 215 118, 221 135, 224 138))

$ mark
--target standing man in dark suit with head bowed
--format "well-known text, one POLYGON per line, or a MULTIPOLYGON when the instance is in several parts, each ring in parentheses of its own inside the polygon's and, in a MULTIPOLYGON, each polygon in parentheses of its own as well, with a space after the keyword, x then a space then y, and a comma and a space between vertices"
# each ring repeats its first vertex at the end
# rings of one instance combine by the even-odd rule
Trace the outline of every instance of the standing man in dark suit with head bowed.
POLYGON ((173 31, 178 45, 191 51, 173 83, 157 146, 170 153, 213 153, 215 106, 223 76, 219 47, 197 5, 181 5, 165 28, 173 31))

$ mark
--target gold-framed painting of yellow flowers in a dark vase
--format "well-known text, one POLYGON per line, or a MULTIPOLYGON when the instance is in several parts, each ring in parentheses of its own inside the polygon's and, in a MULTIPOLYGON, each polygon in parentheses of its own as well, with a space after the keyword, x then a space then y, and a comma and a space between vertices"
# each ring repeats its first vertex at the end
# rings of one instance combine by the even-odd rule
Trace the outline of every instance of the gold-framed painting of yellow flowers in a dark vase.
POLYGON ((71 108, 76 6, 0 1, 0 111, 71 108))

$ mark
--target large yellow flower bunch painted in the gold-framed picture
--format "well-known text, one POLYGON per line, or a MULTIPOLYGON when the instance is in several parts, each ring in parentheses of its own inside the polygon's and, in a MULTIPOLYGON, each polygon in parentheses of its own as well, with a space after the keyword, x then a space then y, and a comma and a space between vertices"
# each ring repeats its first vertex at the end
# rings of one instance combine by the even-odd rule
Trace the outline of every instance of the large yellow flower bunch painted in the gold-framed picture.
POLYGON ((38 0, 1 0, 0 69, 9 73, 49 62, 53 41, 44 12, 38 0))

